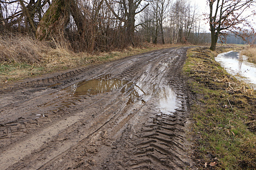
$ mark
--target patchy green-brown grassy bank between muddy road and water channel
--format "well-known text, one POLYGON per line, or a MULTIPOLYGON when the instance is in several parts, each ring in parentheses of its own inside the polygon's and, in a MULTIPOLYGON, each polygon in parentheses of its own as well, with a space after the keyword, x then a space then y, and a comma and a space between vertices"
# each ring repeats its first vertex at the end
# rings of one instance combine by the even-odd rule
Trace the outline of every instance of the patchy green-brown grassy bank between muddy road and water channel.
POLYGON ((231 48, 192 48, 184 65, 199 168, 256 168, 256 93, 214 60, 231 48))

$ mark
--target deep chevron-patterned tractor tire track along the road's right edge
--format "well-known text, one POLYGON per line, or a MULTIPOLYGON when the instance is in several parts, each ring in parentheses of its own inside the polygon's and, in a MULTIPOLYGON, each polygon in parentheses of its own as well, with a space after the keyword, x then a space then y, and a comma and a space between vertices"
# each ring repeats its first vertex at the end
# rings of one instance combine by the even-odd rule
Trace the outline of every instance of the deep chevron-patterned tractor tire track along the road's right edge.
MULTIPOLYGON (((173 52, 173 54, 177 53, 173 52)), ((166 61, 166 58, 164 60, 166 61)), ((184 169, 191 164, 189 160, 186 161, 187 157, 184 159, 186 155, 184 126, 188 114, 186 86, 180 69, 184 61, 185 50, 173 58, 163 79, 158 83, 159 86, 167 83, 175 90, 179 107, 173 114, 154 113, 152 110, 157 112, 155 107, 144 109, 141 114, 150 116, 150 119, 147 119, 136 133, 131 133, 131 130, 124 131, 123 137, 116 141, 116 143, 126 143, 129 136, 134 136, 130 138, 132 142, 129 142, 130 153, 124 156, 129 159, 121 163, 123 169, 184 169)), ((155 100, 151 102, 148 105, 156 106, 155 100)), ((119 147, 122 148, 121 144, 119 147)), ((116 157, 122 156, 118 154, 116 157)), ((109 166, 113 165, 107 163, 106 167, 109 166)))

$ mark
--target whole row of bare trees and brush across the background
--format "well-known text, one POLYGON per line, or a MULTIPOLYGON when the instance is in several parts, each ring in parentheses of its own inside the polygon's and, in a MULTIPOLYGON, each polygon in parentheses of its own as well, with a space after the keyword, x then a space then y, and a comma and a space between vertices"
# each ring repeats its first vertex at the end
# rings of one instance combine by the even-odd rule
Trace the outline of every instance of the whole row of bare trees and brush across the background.
MULTIPOLYGON (((74 52, 111 51, 142 42, 203 44, 215 50, 223 30, 238 26, 252 0, 207 0, 211 34, 202 33, 189 0, 0 0, 0 34, 22 33, 64 44, 74 52), (216 6, 215 6, 216 5, 216 6), (216 10, 216 11, 215 11, 216 10), (237 11, 242 12, 237 12, 237 11)), ((237 35, 237 34, 236 34, 237 35)))

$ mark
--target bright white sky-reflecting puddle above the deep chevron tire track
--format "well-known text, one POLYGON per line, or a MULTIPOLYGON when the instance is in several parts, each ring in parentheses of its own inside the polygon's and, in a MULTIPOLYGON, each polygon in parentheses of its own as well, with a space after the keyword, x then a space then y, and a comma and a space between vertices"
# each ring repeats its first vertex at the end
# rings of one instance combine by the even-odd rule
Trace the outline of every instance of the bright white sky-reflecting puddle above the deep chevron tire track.
POLYGON ((173 115, 178 108, 177 95, 170 87, 161 87, 157 94, 159 100, 159 109, 164 114, 173 115))

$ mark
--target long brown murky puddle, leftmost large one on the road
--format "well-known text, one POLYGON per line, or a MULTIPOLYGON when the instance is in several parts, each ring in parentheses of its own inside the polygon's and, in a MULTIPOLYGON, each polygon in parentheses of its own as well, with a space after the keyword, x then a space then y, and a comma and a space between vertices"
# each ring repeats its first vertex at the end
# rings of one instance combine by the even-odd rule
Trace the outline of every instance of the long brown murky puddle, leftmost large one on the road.
POLYGON ((67 87, 69 95, 99 94, 116 90, 127 81, 111 78, 111 75, 99 77, 94 80, 82 81, 67 87))

